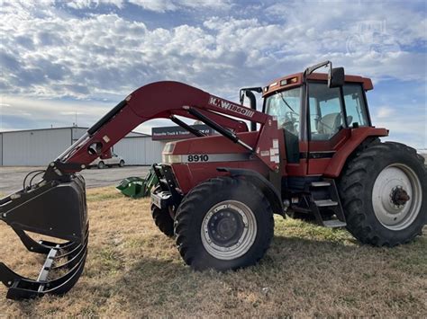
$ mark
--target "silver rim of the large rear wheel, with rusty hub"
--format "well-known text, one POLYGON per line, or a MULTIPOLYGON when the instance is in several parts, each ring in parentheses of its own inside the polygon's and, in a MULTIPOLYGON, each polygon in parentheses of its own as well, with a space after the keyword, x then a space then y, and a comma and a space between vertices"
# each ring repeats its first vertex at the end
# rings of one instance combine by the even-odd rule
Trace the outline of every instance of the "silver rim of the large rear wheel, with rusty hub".
POLYGON ((391 230, 407 228, 420 213, 421 205, 421 182, 410 167, 391 164, 378 174, 372 206, 383 226, 391 230))

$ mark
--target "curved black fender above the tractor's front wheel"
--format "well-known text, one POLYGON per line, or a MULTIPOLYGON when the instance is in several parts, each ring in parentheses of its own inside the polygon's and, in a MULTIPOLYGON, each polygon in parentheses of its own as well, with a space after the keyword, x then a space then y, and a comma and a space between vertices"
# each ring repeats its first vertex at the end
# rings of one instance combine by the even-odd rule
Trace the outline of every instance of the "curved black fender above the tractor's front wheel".
POLYGON ((229 173, 232 177, 244 177, 259 188, 260 191, 267 197, 275 214, 285 217, 285 209, 283 208, 282 198, 277 189, 260 173, 242 168, 218 167, 218 172, 229 173))

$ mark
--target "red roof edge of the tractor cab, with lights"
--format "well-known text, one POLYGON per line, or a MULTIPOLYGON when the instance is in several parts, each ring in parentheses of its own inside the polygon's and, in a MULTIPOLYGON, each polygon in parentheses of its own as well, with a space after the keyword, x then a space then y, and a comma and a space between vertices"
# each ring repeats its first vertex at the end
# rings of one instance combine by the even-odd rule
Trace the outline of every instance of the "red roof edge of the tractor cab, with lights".
MULTIPOLYGON (((326 73, 312 73, 307 77, 309 80, 314 81, 327 81, 328 74, 326 73)), ((365 91, 372 90, 374 85, 372 81, 368 77, 362 77, 359 75, 345 75, 345 82, 350 83, 359 83, 363 85, 363 89, 365 91)), ((294 75, 286 75, 274 80, 272 83, 268 84, 268 86, 264 87, 262 90, 262 97, 266 97, 271 93, 275 93, 281 90, 291 89, 296 86, 300 86, 303 84, 303 73, 295 73, 294 75)))

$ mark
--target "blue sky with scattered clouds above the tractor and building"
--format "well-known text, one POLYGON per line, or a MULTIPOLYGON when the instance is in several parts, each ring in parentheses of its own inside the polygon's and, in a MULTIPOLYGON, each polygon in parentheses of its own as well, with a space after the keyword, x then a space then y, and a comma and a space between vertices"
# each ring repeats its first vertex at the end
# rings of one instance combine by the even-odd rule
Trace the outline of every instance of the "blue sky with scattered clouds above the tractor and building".
POLYGON ((0 0, 0 18, 0 130, 90 126, 165 79, 237 101, 331 59, 373 79, 377 127, 427 148, 424 1, 0 0))

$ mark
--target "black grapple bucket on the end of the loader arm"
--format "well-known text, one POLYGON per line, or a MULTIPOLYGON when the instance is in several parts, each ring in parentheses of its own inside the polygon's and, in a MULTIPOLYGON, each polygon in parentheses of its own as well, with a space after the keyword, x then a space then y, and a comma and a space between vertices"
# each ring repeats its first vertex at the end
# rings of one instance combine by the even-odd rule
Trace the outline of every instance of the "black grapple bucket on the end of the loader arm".
POLYGON ((0 219, 14 229, 30 252, 46 255, 37 279, 25 278, 0 262, 0 281, 8 288, 6 297, 61 295, 77 283, 87 254, 86 211, 85 180, 80 175, 70 175, 63 182, 43 181, 0 199, 0 219), (60 241, 36 241, 27 232, 60 241))

